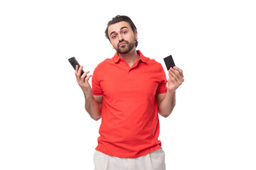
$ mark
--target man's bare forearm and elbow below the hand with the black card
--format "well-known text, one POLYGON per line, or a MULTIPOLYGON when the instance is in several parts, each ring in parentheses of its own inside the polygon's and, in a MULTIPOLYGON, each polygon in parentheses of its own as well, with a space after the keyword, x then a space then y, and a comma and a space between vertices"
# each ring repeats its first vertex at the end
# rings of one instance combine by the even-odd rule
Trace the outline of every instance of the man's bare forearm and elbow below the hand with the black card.
POLYGON ((166 93, 163 101, 159 104, 159 114, 167 118, 171 112, 174 110, 174 106, 176 104, 176 92, 166 93))

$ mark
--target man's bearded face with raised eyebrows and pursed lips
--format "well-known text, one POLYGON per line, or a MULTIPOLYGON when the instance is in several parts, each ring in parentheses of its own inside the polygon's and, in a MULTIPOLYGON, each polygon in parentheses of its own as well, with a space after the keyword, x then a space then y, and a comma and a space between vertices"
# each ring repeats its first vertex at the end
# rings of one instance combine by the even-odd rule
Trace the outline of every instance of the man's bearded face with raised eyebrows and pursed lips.
POLYGON ((114 50, 117 50, 119 54, 126 54, 135 47, 137 30, 133 33, 129 23, 125 21, 110 25, 108 28, 108 35, 114 50))

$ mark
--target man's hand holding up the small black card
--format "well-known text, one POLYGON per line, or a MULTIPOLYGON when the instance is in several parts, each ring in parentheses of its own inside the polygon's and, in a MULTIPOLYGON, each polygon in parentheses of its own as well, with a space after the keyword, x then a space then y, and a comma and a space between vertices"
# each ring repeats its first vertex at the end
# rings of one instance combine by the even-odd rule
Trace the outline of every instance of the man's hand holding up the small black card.
POLYGON ((178 67, 170 68, 169 69, 169 79, 168 79, 168 89, 167 91, 171 94, 178 89, 179 86, 183 83, 183 71, 178 67))

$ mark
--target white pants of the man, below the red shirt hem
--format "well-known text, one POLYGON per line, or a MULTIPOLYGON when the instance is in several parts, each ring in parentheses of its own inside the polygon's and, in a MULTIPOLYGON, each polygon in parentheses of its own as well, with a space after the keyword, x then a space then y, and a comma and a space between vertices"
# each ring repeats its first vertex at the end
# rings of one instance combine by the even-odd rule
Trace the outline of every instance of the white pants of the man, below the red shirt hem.
POLYGON ((159 148, 138 158, 112 157, 95 150, 95 170, 165 170, 165 153, 159 148))

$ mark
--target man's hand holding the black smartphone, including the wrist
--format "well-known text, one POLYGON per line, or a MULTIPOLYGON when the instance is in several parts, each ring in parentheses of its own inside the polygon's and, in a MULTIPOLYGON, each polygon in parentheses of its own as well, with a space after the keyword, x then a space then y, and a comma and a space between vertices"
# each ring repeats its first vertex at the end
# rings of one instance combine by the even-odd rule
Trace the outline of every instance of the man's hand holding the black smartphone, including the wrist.
POLYGON ((85 72, 84 74, 81 75, 82 72, 82 66, 79 67, 78 65, 75 66, 75 77, 78 81, 78 85, 82 89, 82 92, 85 94, 85 98, 92 96, 92 88, 89 84, 89 79, 92 77, 92 75, 88 75, 89 71, 85 72))

